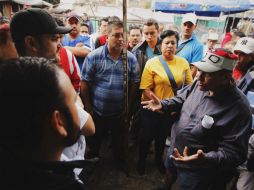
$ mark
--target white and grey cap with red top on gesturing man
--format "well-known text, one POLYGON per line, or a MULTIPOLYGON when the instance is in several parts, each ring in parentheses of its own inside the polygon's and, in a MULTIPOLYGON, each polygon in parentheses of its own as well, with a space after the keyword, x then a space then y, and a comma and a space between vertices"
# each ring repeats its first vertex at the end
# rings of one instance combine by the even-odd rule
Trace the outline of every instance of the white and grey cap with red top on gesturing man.
POLYGON ((216 49, 214 52, 208 52, 201 61, 192 64, 201 71, 213 73, 222 69, 233 71, 236 61, 236 55, 224 49, 216 49))

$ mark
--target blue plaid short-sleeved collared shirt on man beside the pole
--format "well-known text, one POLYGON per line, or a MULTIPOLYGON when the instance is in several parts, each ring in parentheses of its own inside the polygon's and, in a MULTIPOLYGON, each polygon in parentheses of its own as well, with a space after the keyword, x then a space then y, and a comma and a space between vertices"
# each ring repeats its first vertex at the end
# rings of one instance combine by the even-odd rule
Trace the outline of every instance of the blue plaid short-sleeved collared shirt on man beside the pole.
MULTIPOLYGON (((128 79, 138 83, 140 70, 137 59, 128 51, 128 79)), ((81 80, 90 84, 92 105, 100 116, 119 115, 124 98, 124 65, 122 56, 113 60, 107 44, 95 49, 85 59, 81 80)))

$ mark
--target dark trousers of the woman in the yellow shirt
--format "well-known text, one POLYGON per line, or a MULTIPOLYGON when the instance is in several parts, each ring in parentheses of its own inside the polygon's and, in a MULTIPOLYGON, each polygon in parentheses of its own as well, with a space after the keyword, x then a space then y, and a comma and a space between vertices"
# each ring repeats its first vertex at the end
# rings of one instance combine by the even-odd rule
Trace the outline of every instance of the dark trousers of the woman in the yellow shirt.
POLYGON ((170 129, 171 118, 167 114, 141 110, 142 127, 139 139, 139 163, 145 164, 149 146, 155 140, 155 160, 157 164, 162 163, 162 155, 165 141, 170 129))

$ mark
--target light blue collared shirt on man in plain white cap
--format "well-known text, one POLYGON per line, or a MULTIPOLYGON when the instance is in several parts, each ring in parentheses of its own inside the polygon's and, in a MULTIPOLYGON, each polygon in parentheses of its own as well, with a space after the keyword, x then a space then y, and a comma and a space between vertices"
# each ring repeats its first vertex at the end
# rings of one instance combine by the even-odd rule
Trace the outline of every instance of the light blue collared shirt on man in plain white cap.
POLYGON ((190 64, 200 61, 203 57, 203 44, 201 44, 196 38, 195 34, 186 41, 179 41, 178 48, 183 46, 183 49, 176 55, 185 58, 190 64))

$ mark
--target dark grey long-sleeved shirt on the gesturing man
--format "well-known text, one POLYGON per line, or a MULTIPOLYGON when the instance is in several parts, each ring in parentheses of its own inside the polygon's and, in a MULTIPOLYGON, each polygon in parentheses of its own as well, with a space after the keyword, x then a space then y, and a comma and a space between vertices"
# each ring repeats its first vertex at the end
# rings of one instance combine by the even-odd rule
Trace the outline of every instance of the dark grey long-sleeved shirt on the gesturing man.
POLYGON ((248 100, 239 89, 233 87, 209 96, 208 91, 199 90, 199 81, 195 81, 182 94, 161 103, 164 110, 180 113, 172 126, 168 153, 172 154, 173 148, 182 153, 185 146, 188 155, 199 149, 205 153, 204 159, 176 163, 177 167, 232 169, 245 161, 252 122, 248 100), (207 117, 212 120, 209 125, 207 117))

